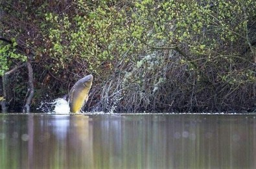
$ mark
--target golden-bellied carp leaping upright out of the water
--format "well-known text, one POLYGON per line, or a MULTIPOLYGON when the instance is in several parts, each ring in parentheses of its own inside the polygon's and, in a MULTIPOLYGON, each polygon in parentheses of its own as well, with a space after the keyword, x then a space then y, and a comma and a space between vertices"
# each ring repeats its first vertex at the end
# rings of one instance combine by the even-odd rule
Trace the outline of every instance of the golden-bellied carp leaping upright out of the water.
POLYGON ((71 113, 80 112, 88 100, 89 90, 93 84, 93 75, 86 75, 75 83, 69 92, 69 107, 71 113))

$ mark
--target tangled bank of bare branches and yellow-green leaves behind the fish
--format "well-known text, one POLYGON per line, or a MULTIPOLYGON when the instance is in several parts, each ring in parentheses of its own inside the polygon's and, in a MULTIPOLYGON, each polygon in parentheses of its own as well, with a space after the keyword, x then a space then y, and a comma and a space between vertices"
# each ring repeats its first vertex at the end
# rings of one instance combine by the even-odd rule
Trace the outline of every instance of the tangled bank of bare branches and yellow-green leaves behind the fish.
POLYGON ((94 75, 87 110, 255 110, 256 1, 0 3, 2 109, 94 75))

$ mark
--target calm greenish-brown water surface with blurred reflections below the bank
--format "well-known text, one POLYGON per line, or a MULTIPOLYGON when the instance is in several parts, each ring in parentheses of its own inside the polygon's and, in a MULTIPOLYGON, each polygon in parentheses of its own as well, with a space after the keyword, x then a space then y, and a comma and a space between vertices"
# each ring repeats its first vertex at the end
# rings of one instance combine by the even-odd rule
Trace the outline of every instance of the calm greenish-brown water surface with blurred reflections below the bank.
POLYGON ((0 114, 0 168, 256 168, 255 117, 0 114))

